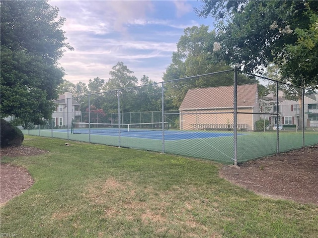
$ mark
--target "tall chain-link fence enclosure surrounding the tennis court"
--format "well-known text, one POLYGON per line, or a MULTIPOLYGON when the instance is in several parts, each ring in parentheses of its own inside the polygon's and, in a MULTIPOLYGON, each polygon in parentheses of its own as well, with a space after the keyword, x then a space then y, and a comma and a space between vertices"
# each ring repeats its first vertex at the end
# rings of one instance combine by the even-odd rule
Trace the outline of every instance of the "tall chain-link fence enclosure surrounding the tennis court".
POLYGON ((55 103, 47 125, 23 132, 228 164, 318 143, 318 92, 236 70, 55 103))

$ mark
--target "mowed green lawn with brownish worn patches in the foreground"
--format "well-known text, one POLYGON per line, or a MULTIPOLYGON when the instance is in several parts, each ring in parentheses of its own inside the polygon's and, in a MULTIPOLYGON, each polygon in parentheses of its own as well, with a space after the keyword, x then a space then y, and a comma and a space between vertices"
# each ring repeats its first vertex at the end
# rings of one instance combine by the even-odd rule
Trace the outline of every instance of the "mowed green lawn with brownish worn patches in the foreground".
POLYGON ((18 237, 314 238, 318 206, 256 195, 220 165, 134 149, 25 136, 49 151, 1 158, 34 185, 1 207, 1 234, 18 237), (65 143, 71 143, 66 146, 65 143))

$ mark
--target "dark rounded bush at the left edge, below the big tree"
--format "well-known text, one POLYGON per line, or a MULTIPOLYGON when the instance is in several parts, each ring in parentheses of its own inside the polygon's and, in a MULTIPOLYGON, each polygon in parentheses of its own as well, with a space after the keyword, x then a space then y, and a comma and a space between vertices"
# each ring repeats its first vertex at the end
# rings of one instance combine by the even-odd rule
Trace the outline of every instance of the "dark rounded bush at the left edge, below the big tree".
POLYGON ((2 118, 0 134, 1 148, 10 146, 21 146, 24 140, 22 131, 18 127, 11 125, 8 121, 2 118))

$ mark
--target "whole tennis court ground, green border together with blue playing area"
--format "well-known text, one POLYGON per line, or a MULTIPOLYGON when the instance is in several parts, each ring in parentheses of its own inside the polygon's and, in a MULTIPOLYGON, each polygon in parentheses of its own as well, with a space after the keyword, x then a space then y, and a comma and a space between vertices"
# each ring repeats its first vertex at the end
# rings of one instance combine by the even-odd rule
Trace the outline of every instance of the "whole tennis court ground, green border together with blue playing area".
MULTIPOLYGON (((71 134, 71 129, 24 130, 23 133, 37 136, 56 137, 73 141, 83 141, 110 146, 136 148, 158 151, 183 156, 215 160, 232 164, 234 158, 233 132, 225 131, 161 131, 71 134), (120 135, 120 136, 119 136, 120 135)), ((240 132, 238 133, 238 162, 268 156, 277 152, 276 131, 271 132, 240 132)), ((279 152, 301 148, 302 133, 280 132, 279 152)), ((305 146, 318 144, 317 131, 305 132, 305 146)))

